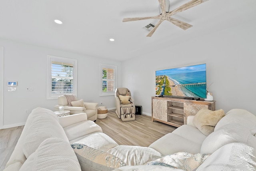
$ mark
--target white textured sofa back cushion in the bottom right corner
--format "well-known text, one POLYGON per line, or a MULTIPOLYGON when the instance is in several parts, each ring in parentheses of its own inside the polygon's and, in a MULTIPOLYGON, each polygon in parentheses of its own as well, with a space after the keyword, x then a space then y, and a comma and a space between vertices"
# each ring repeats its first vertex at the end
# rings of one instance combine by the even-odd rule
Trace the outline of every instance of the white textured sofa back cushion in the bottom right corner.
POLYGON ((255 149, 245 143, 226 144, 210 155, 197 171, 255 171, 255 149))

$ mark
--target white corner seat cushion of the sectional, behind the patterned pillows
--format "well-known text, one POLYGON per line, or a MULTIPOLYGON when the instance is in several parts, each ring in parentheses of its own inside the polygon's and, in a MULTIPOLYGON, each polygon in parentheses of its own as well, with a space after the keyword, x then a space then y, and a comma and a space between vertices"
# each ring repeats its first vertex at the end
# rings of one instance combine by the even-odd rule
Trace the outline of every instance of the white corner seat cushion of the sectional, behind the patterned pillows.
POLYGON ((110 138, 108 135, 102 132, 93 133, 91 135, 84 137, 83 139, 80 139, 72 143, 84 144, 94 149, 99 149, 102 151, 108 151, 109 149, 118 146, 118 143, 116 143, 116 141, 114 141, 112 138, 110 138))

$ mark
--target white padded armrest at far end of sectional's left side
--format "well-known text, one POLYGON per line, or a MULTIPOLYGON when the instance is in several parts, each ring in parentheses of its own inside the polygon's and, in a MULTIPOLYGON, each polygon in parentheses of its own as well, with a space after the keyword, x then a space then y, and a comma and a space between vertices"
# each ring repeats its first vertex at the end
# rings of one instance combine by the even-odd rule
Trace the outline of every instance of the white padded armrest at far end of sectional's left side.
POLYGON ((81 121, 87 121, 87 115, 86 115, 86 113, 78 113, 78 114, 58 117, 58 119, 59 119, 60 125, 62 127, 67 127, 74 123, 78 123, 81 121))

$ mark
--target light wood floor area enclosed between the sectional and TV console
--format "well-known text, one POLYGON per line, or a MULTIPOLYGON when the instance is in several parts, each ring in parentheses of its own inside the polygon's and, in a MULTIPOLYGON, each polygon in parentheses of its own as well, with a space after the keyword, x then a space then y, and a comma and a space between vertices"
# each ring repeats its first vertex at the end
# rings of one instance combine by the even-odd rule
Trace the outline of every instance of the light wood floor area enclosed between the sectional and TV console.
POLYGON ((158 121, 152 122, 148 115, 136 115, 135 117, 135 121, 123 122, 117 117, 115 110, 109 110, 106 118, 97 119, 95 123, 119 145, 142 147, 148 147, 160 137, 176 129, 176 127, 158 121))

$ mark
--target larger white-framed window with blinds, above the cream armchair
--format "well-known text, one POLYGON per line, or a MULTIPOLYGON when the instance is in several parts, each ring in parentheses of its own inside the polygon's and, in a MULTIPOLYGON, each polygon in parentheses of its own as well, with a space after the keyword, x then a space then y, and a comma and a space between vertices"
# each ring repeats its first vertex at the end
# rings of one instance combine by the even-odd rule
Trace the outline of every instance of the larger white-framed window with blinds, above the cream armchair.
POLYGON ((76 95, 76 73, 77 60, 48 55, 46 99, 56 99, 64 94, 76 95))

